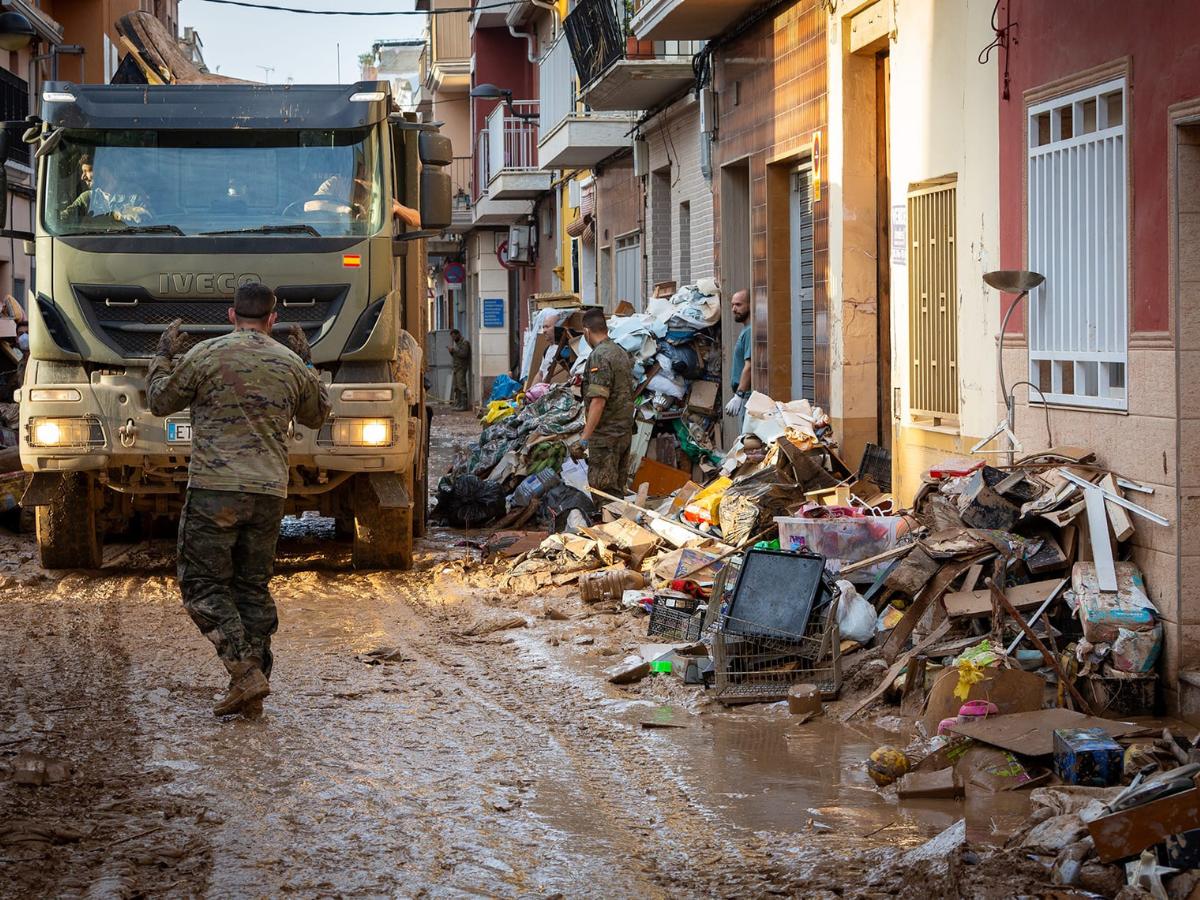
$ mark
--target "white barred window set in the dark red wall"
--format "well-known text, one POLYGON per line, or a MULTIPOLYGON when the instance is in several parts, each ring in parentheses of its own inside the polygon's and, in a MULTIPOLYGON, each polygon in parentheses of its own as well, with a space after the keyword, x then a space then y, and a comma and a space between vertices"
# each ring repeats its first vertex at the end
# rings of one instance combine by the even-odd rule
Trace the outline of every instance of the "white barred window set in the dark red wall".
POLYGON ((1030 380, 1050 403, 1126 408, 1126 84, 1030 107, 1030 380))

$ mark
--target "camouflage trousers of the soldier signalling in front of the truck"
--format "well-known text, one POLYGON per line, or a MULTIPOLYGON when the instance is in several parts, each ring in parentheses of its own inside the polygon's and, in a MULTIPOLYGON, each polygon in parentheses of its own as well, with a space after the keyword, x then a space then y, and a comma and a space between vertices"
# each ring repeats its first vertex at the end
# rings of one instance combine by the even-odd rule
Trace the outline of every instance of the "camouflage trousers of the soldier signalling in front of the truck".
POLYGON ((179 520, 184 608, 227 662, 252 659, 271 673, 280 620, 268 584, 283 498, 188 488, 179 520))

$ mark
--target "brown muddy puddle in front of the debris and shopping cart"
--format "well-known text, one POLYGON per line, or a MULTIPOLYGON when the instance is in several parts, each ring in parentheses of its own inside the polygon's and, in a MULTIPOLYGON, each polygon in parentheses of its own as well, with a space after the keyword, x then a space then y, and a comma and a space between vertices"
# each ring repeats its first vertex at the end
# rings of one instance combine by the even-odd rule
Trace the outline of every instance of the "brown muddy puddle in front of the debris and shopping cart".
POLYGON ((576 691, 581 676, 590 677, 601 697, 596 709, 638 730, 646 752, 670 763, 674 786, 731 827, 792 833, 800 842, 814 827, 827 826, 834 835, 907 846, 966 818, 973 844, 998 845, 1030 811, 1027 792, 970 788, 964 800, 900 803, 894 791, 881 791, 866 774, 866 760, 882 744, 905 746, 908 733, 828 715, 798 725, 784 703, 724 708, 708 704, 701 688, 691 689, 688 709, 631 698, 604 683, 612 660, 539 647, 532 635, 518 643, 528 659, 545 665, 545 674, 572 682, 576 691), (685 727, 643 726, 655 719, 685 727))

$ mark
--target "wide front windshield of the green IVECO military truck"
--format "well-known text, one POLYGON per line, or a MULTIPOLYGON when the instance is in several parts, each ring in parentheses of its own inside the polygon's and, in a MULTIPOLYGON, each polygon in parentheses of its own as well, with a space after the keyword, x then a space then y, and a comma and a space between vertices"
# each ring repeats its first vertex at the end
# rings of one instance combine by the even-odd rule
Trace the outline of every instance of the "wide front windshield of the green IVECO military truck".
POLYGON ((46 168, 50 234, 374 234, 378 136, 68 131, 46 168))

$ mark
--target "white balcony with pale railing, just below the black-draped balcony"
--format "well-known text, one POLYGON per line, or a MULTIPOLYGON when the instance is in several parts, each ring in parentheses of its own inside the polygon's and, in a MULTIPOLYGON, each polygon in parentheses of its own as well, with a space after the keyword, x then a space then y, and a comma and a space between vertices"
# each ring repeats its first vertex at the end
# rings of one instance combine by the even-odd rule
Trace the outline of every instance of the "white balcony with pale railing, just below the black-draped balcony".
POLYGON ((629 107, 596 110, 582 102, 568 38, 559 37, 546 52, 539 67, 539 86, 538 154, 544 169, 595 166, 629 146, 634 113, 629 107))

